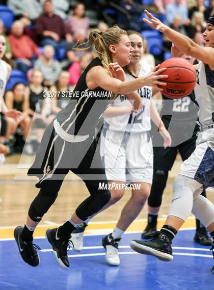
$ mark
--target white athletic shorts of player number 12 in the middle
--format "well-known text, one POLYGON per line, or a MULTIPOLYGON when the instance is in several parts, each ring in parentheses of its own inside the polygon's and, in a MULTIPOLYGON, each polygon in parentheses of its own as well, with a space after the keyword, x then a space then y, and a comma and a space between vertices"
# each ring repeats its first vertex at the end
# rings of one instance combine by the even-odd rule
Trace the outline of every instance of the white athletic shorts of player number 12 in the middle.
POLYGON ((102 130, 100 143, 108 180, 152 183, 153 148, 149 132, 102 130))

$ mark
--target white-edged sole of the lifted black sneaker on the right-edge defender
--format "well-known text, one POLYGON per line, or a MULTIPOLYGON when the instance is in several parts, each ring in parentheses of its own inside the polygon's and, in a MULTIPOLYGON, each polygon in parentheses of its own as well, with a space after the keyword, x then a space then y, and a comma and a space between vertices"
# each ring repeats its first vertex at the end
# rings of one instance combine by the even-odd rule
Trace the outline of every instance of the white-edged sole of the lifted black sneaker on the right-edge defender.
POLYGON ((156 258, 158 258, 161 261, 169 262, 173 259, 173 256, 170 254, 167 254, 167 253, 152 249, 150 247, 138 244, 135 241, 131 241, 130 247, 132 250, 136 251, 139 254, 155 256, 156 258))

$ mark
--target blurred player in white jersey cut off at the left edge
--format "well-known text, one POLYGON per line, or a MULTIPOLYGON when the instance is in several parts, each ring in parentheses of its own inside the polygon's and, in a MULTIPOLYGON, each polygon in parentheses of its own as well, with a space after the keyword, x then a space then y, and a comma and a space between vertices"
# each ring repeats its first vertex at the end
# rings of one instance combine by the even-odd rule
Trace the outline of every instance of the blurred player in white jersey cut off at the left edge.
MULTIPOLYGON (((6 125, 6 117, 12 117, 14 119, 19 116, 19 112, 16 110, 8 110, 4 102, 5 87, 10 76, 11 66, 2 60, 6 50, 6 40, 3 35, 0 35, 0 136, 9 136, 14 128, 13 120, 8 118, 8 126, 6 125)), ((0 144, 0 153, 7 154, 8 148, 3 144, 0 144)), ((3 160, 3 157, 1 157, 3 160)), ((0 160, 0 163, 2 161, 0 160)))

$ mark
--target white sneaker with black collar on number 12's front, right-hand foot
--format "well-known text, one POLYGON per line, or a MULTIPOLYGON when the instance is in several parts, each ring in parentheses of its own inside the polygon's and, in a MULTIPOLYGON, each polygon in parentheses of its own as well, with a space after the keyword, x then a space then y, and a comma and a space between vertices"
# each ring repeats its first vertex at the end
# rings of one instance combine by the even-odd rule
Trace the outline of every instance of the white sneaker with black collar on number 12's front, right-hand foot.
POLYGON ((105 259, 111 266, 120 265, 118 253, 118 243, 121 239, 113 239, 112 234, 108 234, 102 238, 102 246, 105 248, 105 259))

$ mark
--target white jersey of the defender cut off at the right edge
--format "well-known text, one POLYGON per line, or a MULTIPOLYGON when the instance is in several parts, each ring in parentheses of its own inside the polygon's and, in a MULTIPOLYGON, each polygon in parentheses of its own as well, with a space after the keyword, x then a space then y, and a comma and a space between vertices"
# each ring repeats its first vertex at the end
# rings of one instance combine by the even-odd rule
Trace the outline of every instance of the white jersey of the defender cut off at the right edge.
POLYGON ((214 120, 214 87, 210 84, 213 84, 214 80, 214 71, 211 71, 212 80, 210 84, 207 84, 207 77, 204 64, 200 61, 197 68, 197 83, 194 89, 196 101, 199 104, 199 122, 202 125, 213 123, 214 120))

